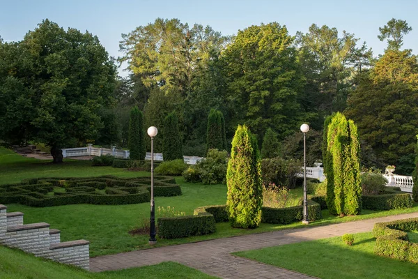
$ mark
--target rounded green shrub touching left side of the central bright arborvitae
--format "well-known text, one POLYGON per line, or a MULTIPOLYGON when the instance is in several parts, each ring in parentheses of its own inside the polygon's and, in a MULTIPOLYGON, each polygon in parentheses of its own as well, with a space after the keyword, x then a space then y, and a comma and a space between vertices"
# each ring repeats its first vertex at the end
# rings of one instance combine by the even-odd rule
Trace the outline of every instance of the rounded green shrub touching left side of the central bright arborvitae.
POLYGON ((228 154, 226 151, 210 149, 206 158, 196 165, 189 166, 183 177, 187 182, 202 182, 203 184, 226 183, 228 154))

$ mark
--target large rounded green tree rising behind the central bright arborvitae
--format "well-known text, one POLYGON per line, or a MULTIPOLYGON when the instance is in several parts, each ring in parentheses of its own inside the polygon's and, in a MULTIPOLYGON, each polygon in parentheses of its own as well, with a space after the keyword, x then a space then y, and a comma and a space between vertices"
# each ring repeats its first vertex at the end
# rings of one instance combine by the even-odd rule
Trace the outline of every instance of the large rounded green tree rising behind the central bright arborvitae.
POLYGON ((251 26, 222 53, 228 73, 231 126, 245 123, 261 139, 265 130, 290 135, 304 118, 297 103, 303 77, 293 38, 277 22, 251 26))

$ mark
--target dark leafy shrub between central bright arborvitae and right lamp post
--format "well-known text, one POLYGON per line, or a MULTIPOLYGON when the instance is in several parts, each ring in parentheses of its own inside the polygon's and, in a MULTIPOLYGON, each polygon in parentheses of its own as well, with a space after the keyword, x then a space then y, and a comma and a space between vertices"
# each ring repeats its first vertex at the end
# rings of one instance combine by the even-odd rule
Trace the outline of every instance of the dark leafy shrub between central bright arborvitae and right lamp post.
MULTIPOLYGON (((297 186, 297 174, 302 171, 302 163, 298 160, 267 158, 261 160, 261 176, 263 183, 274 183, 293 189, 297 186)), ((303 180, 303 178, 302 178, 303 180)))

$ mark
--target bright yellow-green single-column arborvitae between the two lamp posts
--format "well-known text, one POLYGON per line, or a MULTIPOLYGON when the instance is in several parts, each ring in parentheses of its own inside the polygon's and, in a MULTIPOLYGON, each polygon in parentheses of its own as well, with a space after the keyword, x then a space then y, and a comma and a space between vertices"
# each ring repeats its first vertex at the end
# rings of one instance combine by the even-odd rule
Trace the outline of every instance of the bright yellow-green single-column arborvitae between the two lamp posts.
POLYGON ((258 227, 263 205, 261 164, 257 141, 247 126, 238 126, 233 137, 226 184, 226 204, 232 227, 258 227))

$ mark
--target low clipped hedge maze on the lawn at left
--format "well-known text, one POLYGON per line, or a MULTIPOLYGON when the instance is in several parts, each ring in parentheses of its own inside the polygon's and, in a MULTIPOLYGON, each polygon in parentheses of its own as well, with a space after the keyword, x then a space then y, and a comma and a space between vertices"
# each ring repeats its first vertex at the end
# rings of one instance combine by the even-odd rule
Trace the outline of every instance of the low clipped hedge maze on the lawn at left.
MULTIPOLYGON (((150 201, 150 178, 116 176, 24 179, 0 185, 0 204, 60 206, 64 204, 139 204, 150 201)), ((170 176, 154 176, 154 195, 182 195, 170 176)))

